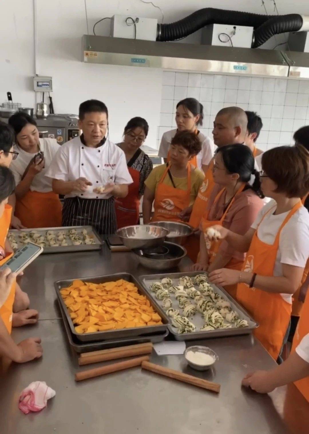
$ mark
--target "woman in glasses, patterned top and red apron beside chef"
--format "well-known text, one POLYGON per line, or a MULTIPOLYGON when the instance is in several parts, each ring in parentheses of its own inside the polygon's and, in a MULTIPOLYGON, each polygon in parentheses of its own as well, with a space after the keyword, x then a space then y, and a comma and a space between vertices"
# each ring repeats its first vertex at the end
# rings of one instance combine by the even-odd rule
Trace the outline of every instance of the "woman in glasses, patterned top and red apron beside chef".
POLYGON ((132 118, 126 125, 124 140, 119 148, 124 151, 133 184, 129 185, 128 195, 115 198, 118 229, 139 223, 140 199, 144 194, 145 180, 152 171, 152 162, 140 147, 148 135, 148 123, 143 118, 132 118))

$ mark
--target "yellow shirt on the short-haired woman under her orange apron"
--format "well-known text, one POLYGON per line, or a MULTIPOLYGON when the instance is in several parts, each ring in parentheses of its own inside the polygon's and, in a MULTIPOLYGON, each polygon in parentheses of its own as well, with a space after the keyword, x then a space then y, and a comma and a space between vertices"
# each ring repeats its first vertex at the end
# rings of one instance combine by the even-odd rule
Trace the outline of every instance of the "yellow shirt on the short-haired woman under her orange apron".
MULTIPOLYGON (((146 187, 149 188, 149 190, 155 194, 155 191, 157 189, 157 186, 159 184, 160 179, 163 176, 163 173, 166 169, 166 164, 161 164, 160 166, 155 167, 148 178, 145 181, 146 187)), ((180 190, 187 190, 187 177, 185 178, 176 178, 172 175, 174 184, 176 188, 180 188, 180 190)), ((190 192, 190 205, 193 204, 195 201, 195 198, 197 196, 197 193, 200 189, 200 186, 203 183, 203 179, 205 178, 204 172, 202 172, 200 169, 194 168, 191 171, 191 192, 190 192)), ((173 187, 171 178, 166 174, 163 184, 169 185, 170 187, 173 187)))

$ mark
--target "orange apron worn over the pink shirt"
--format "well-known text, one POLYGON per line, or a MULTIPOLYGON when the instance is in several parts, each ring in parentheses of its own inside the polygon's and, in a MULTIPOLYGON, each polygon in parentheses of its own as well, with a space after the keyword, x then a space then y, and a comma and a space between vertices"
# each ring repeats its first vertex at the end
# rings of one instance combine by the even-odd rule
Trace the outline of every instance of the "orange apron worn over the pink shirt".
MULTIPOLYGON (((202 217, 202 221, 201 221, 202 230, 203 230, 204 234, 206 233, 206 230, 209 227, 214 226, 215 224, 219 224, 220 226, 222 226, 226 214, 229 212, 229 209, 232 207, 232 204, 235 201, 235 197, 239 193, 241 193, 241 191, 243 191, 243 189, 245 188, 245 185, 246 184, 242 184, 241 187, 238 188, 238 191, 236 192, 236 194, 234 195, 234 197, 230 201, 229 206, 226 208, 226 210, 223 213, 220 220, 208 220, 209 210, 207 211, 207 213, 202 217)), ((222 188, 222 190, 219 191, 213 204, 216 204, 216 202, 219 200, 219 197, 223 194, 224 191, 225 191, 225 188, 222 188)), ((207 248, 208 257, 209 257, 209 263, 212 263, 215 259, 216 254, 218 253, 218 250, 219 250, 220 244, 222 243, 222 240, 210 241, 208 238, 206 238, 205 241, 206 241, 206 248, 207 248)), ((244 263, 244 261, 240 261, 240 260, 237 260, 235 258, 231 258, 231 260, 229 260, 229 262, 225 265, 225 268, 240 271, 242 266, 243 266, 243 263, 244 263)), ((226 289, 228 291, 228 293, 233 298, 236 298, 237 285, 227 285, 227 286, 224 286, 224 289, 226 289)))

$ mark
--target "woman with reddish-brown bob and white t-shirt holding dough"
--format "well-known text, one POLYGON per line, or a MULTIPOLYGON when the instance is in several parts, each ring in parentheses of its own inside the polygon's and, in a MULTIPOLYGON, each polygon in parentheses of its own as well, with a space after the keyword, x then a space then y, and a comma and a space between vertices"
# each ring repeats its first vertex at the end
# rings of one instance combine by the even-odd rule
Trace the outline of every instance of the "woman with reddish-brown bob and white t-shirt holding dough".
POLYGON ((301 201, 309 190, 309 152, 302 145, 270 149, 262 156, 262 169, 261 190, 273 200, 247 233, 214 226, 230 247, 247 252, 244 266, 214 270, 209 279, 238 284, 237 301, 259 323, 254 335, 276 360, 309 257, 309 214, 301 201))

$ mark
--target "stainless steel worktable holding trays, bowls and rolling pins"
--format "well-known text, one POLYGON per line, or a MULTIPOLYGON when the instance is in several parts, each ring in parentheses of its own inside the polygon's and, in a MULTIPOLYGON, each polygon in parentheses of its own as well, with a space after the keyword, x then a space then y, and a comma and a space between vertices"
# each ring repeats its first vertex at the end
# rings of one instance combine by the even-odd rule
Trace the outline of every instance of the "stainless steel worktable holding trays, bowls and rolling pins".
MULTIPOLYGON (((184 261, 181 267, 185 265, 184 261)), ((206 373, 191 370, 182 356, 158 357, 153 352, 152 362, 221 383, 219 395, 141 372, 140 368, 75 383, 77 369, 92 365, 78 367, 77 355, 65 339, 62 320, 53 319, 59 313, 53 282, 118 271, 135 276, 145 273, 131 253, 110 254, 106 248, 101 253, 41 256, 26 269, 21 284, 28 291, 32 306, 41 310, 41 319, 35 326, 14 329, 13 338, 19 342, 29 336, 41 336, 44 355, 25 365, 2 361, 1 434, 306 432, 309 405, 293 385, 278 388, 270 395, 241 388, 245 373, 274 366, 273 359, 250 335, 203 341, 219 355, 216 368, 206 373), (26 416, 18 409, 18 396, 36 380, 46 381, 56 396, 39 414, 26 416), (285 404, 287 393, 291 396, 289 408, 285 404)))

